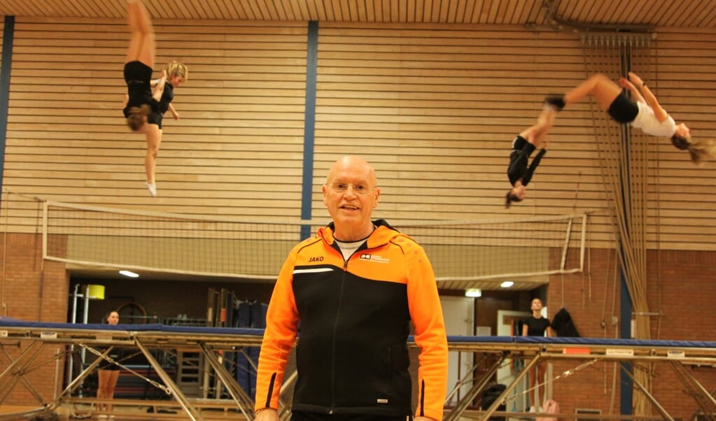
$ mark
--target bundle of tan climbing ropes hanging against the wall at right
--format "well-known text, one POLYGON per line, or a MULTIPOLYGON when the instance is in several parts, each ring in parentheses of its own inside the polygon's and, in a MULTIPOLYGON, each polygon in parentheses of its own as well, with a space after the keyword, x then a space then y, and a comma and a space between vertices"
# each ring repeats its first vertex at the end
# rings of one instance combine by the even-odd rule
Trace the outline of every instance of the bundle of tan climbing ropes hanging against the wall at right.
MULTIPOLYGON (((596 72, 611 77, 625 76, 632 69, 644 74, 653 69, 649 60, 649 37, 648 34, 583 35, 587 76, 596 72)), ((616 125, 606 112, 595 109, 594 102, 591 102, 591 115, 602 180, 610 207, 614 209, 613 223, 621 244, 619 262, 636 318, 634 334, 638 339, 649 339, 646 248, 649 138, 642 133, 632 133, 627 125, 616 125), (597 114, 601 117, 597 118, 597 114)), ((648 370, 636 372, 635 379, 651 390, 648 370)), ((651 403, 642 392, 634 394, 633 403, 636 415, 651 414, 651 403)))

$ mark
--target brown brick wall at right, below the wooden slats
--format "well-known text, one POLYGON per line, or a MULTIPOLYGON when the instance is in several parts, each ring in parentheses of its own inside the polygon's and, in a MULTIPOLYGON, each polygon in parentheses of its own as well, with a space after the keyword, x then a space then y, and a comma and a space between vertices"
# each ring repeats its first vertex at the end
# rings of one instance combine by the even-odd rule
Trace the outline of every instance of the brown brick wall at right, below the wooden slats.
MULTIPOLYGON (((549 286, 552 317, 564 306, 582 337, 618 336, 620 274, 614 272, 614 251, 590 250, 584 274, 553 276, 549 286)), ((700 251, 651 251, 647 256, 647 299, 652 339, 716 341, 710 323, 716 302, 716 253, 700 251)), ((553 363, 554 376, 564 375, 580 362, 553 363)), ((667 364, 655 364, 652 393, 672 417, 689 420, 696 402, 667 364)), ((716 389, 716 367, 687 367, 704 387, 716 389)), ((597 362, 553 383, 553 396, 563 412, 597 408, 619 412, 619 367, 597 362), (616 382, 614 381, 616 376, 616 382)), ((656 413, 656 412, 654 412, 656 413)))

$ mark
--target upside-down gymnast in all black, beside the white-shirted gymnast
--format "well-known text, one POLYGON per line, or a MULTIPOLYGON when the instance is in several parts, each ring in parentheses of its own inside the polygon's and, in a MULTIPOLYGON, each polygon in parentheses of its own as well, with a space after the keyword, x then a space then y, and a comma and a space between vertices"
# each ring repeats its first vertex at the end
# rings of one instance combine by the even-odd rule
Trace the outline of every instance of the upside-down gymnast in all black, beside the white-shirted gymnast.
POLYGON ((521 202, 527 195, 526 187, 532 179, 542 157, 547 153, 547 131, 552 127, 556 111, 551 105, 545 105, 537 123, 523 130, 515 140, 512 141, 512 152, 510 153, 510 165, 507 168, 507 177, 512 184, 505 196, 505 208, 509 208, 512 202, 521 202), (528 165, 530 155, 540 148, 539 153, 528 165))

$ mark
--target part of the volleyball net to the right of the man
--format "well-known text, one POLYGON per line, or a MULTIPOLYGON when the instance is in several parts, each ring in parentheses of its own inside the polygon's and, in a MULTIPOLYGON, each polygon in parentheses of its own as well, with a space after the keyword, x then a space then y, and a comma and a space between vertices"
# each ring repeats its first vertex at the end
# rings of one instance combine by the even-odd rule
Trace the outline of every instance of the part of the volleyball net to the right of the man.
POLYGON ((425 248, 441 288, 584 268, 589 214, 398 225, 425 248))

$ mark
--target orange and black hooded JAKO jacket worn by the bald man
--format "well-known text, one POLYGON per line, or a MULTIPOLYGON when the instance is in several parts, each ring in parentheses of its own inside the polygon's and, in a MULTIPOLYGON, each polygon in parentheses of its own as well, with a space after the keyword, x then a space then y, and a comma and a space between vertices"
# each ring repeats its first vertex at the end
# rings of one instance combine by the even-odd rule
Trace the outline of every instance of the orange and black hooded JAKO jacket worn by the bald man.
POLYGON ((258 358, 256 410, 279 406, 296 347, 292 410, 407 416, 410 321, 420 347, 415 416, 442 419, 448 342, 425 251, 385 221, 347 261, 333 225, 291 250, 274 286, 258 358))

